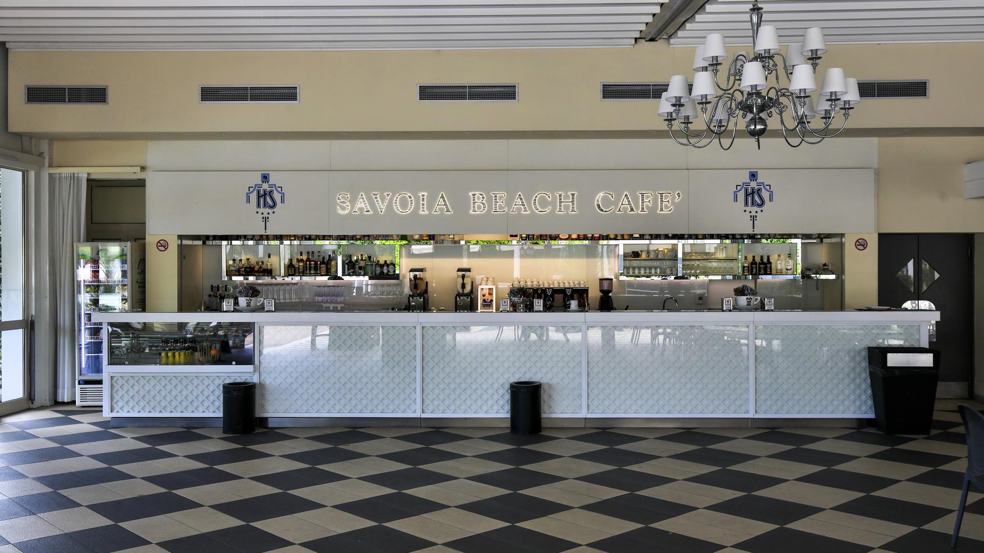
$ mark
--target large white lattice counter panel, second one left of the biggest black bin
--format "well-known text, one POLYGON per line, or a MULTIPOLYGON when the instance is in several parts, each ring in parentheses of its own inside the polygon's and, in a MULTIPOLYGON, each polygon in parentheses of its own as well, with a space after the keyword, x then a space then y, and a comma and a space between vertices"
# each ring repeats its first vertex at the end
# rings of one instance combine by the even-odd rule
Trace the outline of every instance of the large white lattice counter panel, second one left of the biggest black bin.
POLYGON ((587 412, 747 413, 748 327, 588 327, 587 412))

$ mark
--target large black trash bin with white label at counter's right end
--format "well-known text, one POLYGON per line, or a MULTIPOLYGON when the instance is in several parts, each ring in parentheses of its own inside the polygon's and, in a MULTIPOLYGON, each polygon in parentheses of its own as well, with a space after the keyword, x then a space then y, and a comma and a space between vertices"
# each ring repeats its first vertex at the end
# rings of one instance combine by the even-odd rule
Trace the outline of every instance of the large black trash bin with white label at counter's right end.
POLYGON ((928 347, 869 347, 875 421, 886 434, 929 434, 940 352, 928 347))

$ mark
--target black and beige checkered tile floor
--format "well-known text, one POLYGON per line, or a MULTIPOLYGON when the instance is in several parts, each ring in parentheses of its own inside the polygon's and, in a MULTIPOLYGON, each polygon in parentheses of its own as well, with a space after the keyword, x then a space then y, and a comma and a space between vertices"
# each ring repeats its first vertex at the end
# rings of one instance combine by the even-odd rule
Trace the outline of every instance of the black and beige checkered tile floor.
MULTIPOLYGON (((950 552, 966 447, 846 429, 110 429, 0 421, 0 553, 950 552)), ((984 551, 972 493, 957 551, 984 551)))

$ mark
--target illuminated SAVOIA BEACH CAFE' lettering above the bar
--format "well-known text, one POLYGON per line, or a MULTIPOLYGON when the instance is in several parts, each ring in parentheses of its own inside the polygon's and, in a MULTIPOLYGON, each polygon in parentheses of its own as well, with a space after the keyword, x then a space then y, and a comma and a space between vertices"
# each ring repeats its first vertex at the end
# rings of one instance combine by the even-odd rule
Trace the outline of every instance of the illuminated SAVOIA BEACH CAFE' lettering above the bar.
MULTIPOLYGON (((674 204, 683 200, 682 192, 621 191, 599 192, 592 205, 599 214, 671 214, 674 204)), ((339 192, 335 211, 338 215, 453 215, 448 195, 438 192, 339 192)), ((469 192, 467 214, 577 215, 578 192, 469 192)))

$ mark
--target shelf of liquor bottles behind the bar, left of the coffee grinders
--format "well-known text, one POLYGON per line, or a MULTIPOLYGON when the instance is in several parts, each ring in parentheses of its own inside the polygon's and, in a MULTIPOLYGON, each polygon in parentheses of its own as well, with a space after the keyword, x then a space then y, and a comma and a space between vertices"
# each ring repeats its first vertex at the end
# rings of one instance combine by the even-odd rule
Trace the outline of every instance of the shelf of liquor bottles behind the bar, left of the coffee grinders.
POLYGON ((223 242, 223 280, 399 280, 390 243, 223 242))

